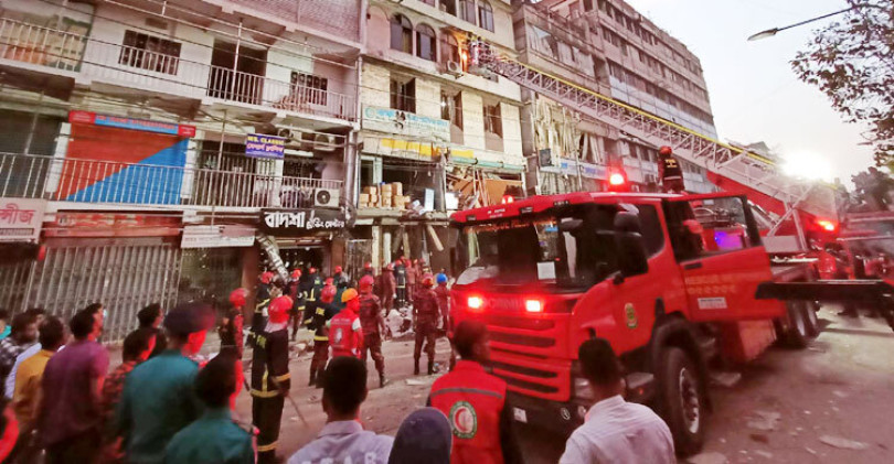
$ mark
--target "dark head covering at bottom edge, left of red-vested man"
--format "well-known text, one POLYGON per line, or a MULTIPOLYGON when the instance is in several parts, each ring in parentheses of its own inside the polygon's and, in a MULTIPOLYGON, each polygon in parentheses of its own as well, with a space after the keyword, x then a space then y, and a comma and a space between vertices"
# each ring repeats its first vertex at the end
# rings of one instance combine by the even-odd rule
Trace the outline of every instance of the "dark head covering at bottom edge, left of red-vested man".
POLYGON ((448 464, 453 446, 450 421, 435 408, 423 408, 404 419, 389 455, 389 464, 448 464))

